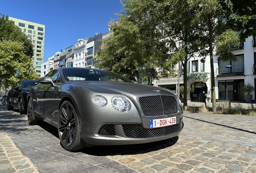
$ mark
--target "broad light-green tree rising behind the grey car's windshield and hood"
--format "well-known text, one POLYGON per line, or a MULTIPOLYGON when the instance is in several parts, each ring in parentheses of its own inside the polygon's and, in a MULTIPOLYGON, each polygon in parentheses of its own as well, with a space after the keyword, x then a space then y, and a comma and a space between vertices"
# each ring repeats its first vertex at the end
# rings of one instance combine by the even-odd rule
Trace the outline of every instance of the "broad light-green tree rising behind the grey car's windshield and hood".
MULTIPOLYGON (((124 72, 132 80, 139 76, 150 84, 150 69, 163 64, 167 56, 167 47, 161 42, 162 34, 157 29, 159 21, 155 18, 159 11, 153 1, 121 2, 124 11, 117 14, 118 24, 112 25, 110 40, 103 40, 104 48, 96 57, 100 59, 97 66, 124 72)), ((173 72, 170 67, 169 70, 173 72)))

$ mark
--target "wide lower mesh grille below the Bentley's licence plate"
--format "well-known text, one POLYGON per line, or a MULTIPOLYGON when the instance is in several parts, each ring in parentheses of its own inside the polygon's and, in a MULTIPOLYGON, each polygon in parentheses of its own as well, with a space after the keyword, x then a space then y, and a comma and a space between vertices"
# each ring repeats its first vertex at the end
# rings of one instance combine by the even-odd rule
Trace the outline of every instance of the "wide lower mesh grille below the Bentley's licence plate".
POLYGON ((180 123, 167 127, 160 127, 156 129, 144 129, 142 125, 122 125, 124 135, 128 138, 151 138, 169 135, 181 129, 182 119, 180 123))

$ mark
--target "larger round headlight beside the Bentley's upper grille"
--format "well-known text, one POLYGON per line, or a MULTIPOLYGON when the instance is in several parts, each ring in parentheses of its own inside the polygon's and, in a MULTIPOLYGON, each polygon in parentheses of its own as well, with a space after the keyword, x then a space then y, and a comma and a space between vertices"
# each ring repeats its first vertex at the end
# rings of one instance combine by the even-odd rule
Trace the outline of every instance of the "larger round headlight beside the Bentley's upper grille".
POLYGON ((130 102, 122 96, 112 97, 111 105, 116 111, 118 111, 120 113, 126 113, 126 112, 130 111, 130 109, 131 109, 130 102))

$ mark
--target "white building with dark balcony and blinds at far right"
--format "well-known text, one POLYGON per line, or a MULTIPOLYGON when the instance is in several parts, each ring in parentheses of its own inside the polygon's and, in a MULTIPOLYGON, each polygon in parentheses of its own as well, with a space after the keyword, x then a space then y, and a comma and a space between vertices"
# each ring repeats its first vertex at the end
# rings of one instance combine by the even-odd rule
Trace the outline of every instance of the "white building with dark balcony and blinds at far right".
MULTIPOLYGON (((237 61, 221 61, 214 58, 216 99, 218 101, 244 102, 243 85, 256 86, 256 41, 250 36, 238 47, 232 47, 237 61)), ((256 92, 251 93, 255 101, 256 92)))

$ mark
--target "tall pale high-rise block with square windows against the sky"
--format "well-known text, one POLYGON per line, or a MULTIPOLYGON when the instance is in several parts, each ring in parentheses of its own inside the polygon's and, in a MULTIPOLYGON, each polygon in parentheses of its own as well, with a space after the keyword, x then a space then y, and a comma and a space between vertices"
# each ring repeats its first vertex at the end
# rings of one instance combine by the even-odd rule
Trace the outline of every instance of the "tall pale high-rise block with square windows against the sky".
POLYGON ((29 22, 18 18, 9 17, 13 24, 19 26, 32 40, 34 55, 32 57, 32 68, 35 68, 37 75, 41 76, 41 64, 43 63, 45 25, 29 22))

